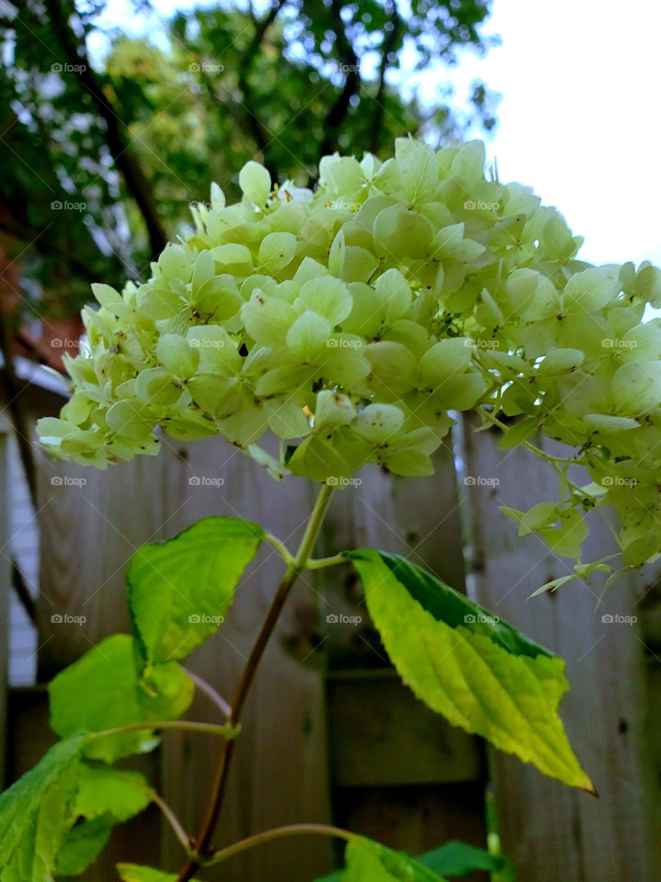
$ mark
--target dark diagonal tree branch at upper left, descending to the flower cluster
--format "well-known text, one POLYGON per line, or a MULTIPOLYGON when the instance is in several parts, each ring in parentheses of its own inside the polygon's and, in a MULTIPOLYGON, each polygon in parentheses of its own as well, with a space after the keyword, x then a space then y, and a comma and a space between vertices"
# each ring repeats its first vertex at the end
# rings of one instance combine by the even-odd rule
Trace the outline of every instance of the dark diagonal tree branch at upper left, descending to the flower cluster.
MULTIPOLYGON (((64 0, 68 2, 68 0, 64 0)), ((63 0, 45 0, 50 24, 56 34, 57 40, 66 56, 71 58, 72 64, 78 64, 80 71, 78 77, 88 93, 92 96, 99 114, 106 123, 106 140, 108 150, 115 161, 115 166, 122 174, 127 190, 135 199, 137 207, 143 216, 152 258, 157 258, 167 245, 167 233, 160 220, 156 203, 153 199, 152 187, 130 151, 130 143, 125 137, 121 126, 123 123, 115 114, 108 99, 103 93, 103 88, 90 65, 87 56, 85 41, 78 41, 78 37, 71 29, 68 16, 63 10, 63 0)), ((73 8, 71 12, 75 11, 73 8)))

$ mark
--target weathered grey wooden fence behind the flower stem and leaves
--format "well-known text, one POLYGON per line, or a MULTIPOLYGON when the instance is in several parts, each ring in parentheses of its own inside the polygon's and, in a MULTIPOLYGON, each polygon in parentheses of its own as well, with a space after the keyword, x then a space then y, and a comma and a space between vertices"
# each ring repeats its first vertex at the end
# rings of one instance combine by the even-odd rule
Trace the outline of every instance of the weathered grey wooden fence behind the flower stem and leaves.
MULTIPOLYGON (((337 567, 301 579, 287 604, 249 699, 220 841, 332 818, 412 853, 448 838, 484 845, 488 777, 503 850, 519 882, 657 882, 661 756, 650 746, 658 714, 648 709, 647 684, 661 679, 661 662, 648 648, 653 643, 637 604, 643 595, 648 605, 656 597, 653 574, 642 579, 643 587, 614 587, 597 608, 598 586, 580 583, 526 602, 532 589, 567 572, 568 564, 534 536, 517 539, 516 526, 496 509, 526 508, 543 494, 553 498, 556 489, 546 467, 527 453, 498 452, 489 432, 464 434, 459 480, 449 447, 438 453, 433 478, 364 469, 358 487, 335 495, 317 550, 397 551, 459 590, 469 557, 472 595, 567 659, 572 689, 561 713, 601 798, 564 789, 502 754, 489 753, 487 774, 482 744, 428 712, 399 684, 362 605, 360 584, 348 568, 337 567), (464 486, 465 475, 476 481, 464 486), (607 624, 605 612, 637 614, 641 621, 607 624), (361 621, 343 624, 343 614, 361 621)), ((295 546, 314 492, 301 479, 271 482, 215 440, 166 442, 158 459, 106 473, 41 460, 40 471, 42 679, 103 636, 128 630, 124 570, 142 542, 226 514, 256 520, 295 546), (85 483, 54 484, 55 475, 85 483), (212 486, 204 478, 224 483, 212 486), (86 621, 57 623, 54 613, 86 621)), ((590 554, 605 553, 609 540, 597 524, 590 542, 590 554)), ((223 694, 232 691, 273 593, 280 568, 274 554, 260 551, 226 623, 188 662, 223 694)), ((11 702, 9 771, 15 775, 45 749, 48 729, 42 691, 16 691, 11 702)), ((204 696, 193 713, 209 713, 204 696)), ((200 823, 217 751, 203 736, 168 733, 159 753, 140 761, 188 829, 200 823)), ((328 871, 333 857, 323 840, 281 841, 233 859, 222 878, 306 882, 328 871)), ((111 861, 120 858, 175 869, 181 850, 152 812, 118 831, 108 861, 84 878, 114 878, 111 861)))

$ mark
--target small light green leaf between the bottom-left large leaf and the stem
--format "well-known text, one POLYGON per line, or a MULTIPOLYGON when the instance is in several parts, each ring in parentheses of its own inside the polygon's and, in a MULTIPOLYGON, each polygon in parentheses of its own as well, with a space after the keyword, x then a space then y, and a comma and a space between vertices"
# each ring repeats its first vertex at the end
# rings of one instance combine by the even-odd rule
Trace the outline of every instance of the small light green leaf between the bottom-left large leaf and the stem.
POLYGON ((151 801, 149 784, 138 772, 87 763, 78 768, 76 815, 88 820, 112 815, 117 821, 125 821, 143 811, 151 801))

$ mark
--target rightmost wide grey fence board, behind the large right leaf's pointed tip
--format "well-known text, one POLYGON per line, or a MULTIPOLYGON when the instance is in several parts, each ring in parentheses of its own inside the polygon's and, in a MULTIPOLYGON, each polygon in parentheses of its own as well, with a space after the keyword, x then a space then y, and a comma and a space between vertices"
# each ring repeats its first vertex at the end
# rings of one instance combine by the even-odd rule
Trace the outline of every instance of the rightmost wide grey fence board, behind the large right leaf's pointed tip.
MULTIPOLYGON (((470 426, 469 426, 470 429, 470 426)), ((602 621, 636 616, 637 593, 621 580, 599 602, 600 584, 573 582, 557 594, 526 601, 549 579, 571 572, 534 535, 520 539, 499 505, 519 509, 553 500, 557 476, 526 451, 498 451, 491 432, 465 434, 472 510, 474 594, 494 614, 521 628, 567 661, 571 689, 561 716, 600 798, 563 787, 531 766, 492 754, 503 849, 517 882, 657 882, 661 878, 659 785, 645 742, 645 648, 636 625, 602 621), (480 486, 497 479, 497 486, 480 486)), ((590 518, 584 559, 602 557, 612 540, 590 518)), ((640 623, 638 623, 640 624, 640 623)))

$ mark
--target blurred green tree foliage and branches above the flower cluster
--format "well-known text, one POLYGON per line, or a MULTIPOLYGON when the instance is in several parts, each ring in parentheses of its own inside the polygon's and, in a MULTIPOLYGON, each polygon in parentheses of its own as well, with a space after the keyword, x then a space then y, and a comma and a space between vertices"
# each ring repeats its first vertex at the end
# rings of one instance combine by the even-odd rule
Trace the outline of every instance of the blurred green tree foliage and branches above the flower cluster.
POLYGON ((250 159, 314 183, 325 153, 492 129, 497 96, 451 88, 461 51, 493 44, 489 6, 277 0, 167 17, 124 0, 123 19, 116 0, 0 0, 0 249, 20 265, 2 273, 5 314, 55 321, 93 280, 145 279, 190 201, 212 180, 234 198, 250 159))

